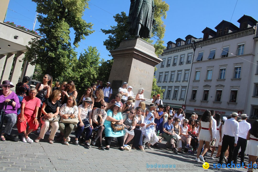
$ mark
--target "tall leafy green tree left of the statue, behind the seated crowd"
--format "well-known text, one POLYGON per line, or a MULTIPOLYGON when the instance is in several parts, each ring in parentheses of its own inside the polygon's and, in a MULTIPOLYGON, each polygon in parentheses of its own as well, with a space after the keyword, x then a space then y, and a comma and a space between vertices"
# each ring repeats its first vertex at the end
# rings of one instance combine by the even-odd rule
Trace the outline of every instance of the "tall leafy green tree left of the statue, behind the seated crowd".
POLYGON ((84 36, 92 34, 93 24, 82 19, 88 8, 88 0, 32 0, 37 4, 37 29, 41 39, 33 39, 27 46, 25 58, 31 64, 38 64, 42 73, 52 75, 54 80, 71 76, 77 53, 71 46, 70 29, 74 30, 73 45, 78 47, 84 36))

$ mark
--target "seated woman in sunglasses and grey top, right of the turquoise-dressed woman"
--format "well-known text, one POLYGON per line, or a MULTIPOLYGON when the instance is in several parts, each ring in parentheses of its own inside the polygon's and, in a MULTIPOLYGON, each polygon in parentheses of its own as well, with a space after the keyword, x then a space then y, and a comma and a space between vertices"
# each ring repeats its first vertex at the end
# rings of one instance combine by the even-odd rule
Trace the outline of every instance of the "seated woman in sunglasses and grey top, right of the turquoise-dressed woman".
MULTIPOLYGON (((130 96, 129 96, 130 97, 130 96)), ((124 114, 123 116, 123 126, 124 129, 124 144, 130 142, 134 137, 134 128, 136 125, 136 118, 135 118, 135 109, 131 109, 129 113, 124 114)))

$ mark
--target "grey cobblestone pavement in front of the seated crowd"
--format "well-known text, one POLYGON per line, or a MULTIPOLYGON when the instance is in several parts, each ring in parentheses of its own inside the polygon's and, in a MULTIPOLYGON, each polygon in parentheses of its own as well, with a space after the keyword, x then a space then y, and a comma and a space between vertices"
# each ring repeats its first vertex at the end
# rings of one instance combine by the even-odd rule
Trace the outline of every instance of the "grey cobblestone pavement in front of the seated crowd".
MULTIPOLYGON (((37 137, 34 133, 29 136, 32 139, 37 137)), ((129 152, 117 149, 115 142, 111 143, 110 150, 102 151, 96 146, 91 148, 75 146, 72 144, 74 135, 71 135, 68 146, 58 141, 49 144, 47 138, 48 136, 45 136, 39 143, 32 144, 21 141, 0 141, 0 171, 219 171, 218 168, 213 169, 212 165, 217 163, 218 159, 208 159, 210 167, 205 170, 203 163, 194 161, 196 155, 175 154, 165 148, 164 141, 158 144, 159 148, 146 149, 145 152, 139 150, 129 152), (168 164, 171 167, 151 168, 151 165, 156 164, 168 164)), ((237 168, 222 170, 239 171, 237 168)))

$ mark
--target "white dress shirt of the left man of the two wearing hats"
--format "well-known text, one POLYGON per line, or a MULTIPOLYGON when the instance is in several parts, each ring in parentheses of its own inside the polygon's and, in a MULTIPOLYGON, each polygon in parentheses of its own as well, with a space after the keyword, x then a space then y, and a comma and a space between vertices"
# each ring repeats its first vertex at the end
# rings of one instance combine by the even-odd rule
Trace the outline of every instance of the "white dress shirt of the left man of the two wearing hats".
POLYGON ((224 122, 223 134, 235 137, 235 143, 237 144, 239 132, 239 124, 234 118, 227 119, 224 122))

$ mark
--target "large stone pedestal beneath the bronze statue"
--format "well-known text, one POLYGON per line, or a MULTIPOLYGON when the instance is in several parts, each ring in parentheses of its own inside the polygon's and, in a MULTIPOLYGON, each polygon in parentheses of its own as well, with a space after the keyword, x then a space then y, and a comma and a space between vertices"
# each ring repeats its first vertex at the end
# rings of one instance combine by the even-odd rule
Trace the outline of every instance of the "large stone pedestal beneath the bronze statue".
MULTIPOLYGON (((129 39, 120 43, 116 50, 110 51, 114 62, 109 76, 113 95, 123 82, 133 87, 134 97, 139 88, 144 88, 144 99, 151 98, 154 67, 159 64, 155 48, 141 38, 129 39)), ((147 103, 147 102, 146 102, 147 103)))

